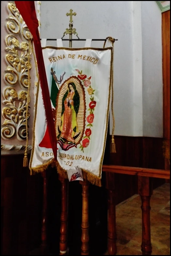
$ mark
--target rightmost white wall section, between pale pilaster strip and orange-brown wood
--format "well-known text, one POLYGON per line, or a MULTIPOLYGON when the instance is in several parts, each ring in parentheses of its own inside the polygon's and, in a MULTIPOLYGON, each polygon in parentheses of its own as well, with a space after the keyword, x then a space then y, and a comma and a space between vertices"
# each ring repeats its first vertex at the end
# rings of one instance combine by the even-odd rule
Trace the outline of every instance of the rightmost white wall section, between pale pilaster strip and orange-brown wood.
POLYGON ((163 136, 162 14, 155 1, 141 1, 143 136, 163 136))

